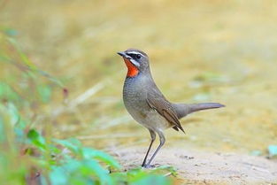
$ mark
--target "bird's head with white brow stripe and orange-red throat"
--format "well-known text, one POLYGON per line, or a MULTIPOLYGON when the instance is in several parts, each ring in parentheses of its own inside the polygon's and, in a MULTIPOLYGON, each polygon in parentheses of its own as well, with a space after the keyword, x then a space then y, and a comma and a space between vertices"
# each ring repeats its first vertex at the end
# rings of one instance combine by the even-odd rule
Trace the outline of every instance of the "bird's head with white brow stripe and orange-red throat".
POLYGON ((127 66, 127 77, 135 77, 139 73, 149 70, 149 59, 142 50, 128 49, 118 52, 127 66))

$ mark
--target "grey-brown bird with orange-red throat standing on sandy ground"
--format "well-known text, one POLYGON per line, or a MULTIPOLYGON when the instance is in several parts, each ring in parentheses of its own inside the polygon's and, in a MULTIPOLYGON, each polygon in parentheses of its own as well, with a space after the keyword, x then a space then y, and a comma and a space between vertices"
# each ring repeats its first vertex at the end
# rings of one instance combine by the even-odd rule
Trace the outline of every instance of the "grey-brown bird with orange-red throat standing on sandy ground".
POLYGON ((165 98, 153 80, 149 57, 145 52, 128 49, 117 53, 123 58, 127 66, 127 76, 123 86, 124 105, 133 119, 150 132, 150 145, 142 162, 144 168, 151 167, 151 162, 165 144, 165 129, 173 128, 185 133, 181 126, 181 118, 192 112, 225 106, 219 103, 171 103, 165 98), (157 134, 159 136, 158 148, 147 161, 157 134))

